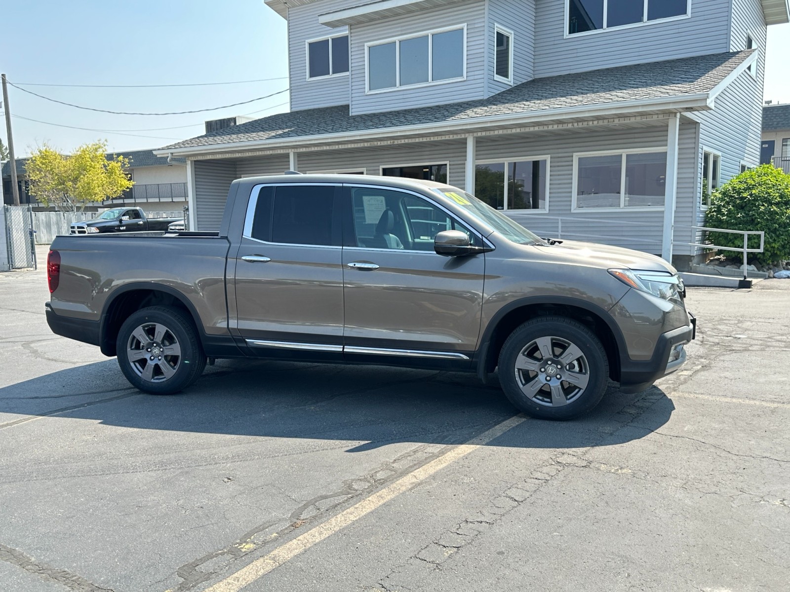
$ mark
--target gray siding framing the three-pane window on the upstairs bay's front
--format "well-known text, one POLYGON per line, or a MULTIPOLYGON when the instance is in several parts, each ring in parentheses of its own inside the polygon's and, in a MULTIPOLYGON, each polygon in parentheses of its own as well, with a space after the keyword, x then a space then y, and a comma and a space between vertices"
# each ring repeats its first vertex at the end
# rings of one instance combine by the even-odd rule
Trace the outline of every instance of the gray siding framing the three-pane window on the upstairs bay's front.
POLYGON ((482 98, 485 77, 484 13, 484 0, 468 0, 452 6, 353 25, 351 113, 374 113, 482 98), (467 25, 465 81, 365 94, 365 43, 461 24, 467 25))

